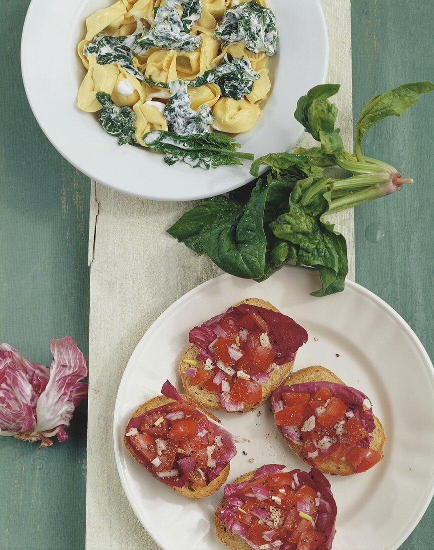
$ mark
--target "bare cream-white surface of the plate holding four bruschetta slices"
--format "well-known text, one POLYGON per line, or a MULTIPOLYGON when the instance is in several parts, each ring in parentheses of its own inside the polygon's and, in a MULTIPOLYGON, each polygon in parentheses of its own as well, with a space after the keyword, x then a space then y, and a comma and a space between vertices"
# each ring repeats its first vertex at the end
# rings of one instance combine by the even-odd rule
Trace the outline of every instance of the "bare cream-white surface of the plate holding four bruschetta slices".
MULTIPOLYGON (((131 449, 124 445, 127 425, 130 436, 137 433, 135 428, 131 431, 131 426, 139 427, 137 423, 131 424, 134 411, 137 416, 137 409, 142 404, 160 395, 166 379, 178 392, 186 393, 179 368, 191 346, 189 331, 252 297, 273 304, 306 329, 308 340, 296 353, 294 373, 312 365, 322 365, 327 372, 332 371, 327 375, 330 382, 340 384, 343 381, 343 387, 348 384, 361 395, 367 395, 375 412, 373 418, 381 419, 381 433, 374 434, 374 438, 381 440, 377 450, 384 458, 363 473, 346 471, 341 472, 344 475, 327 475, 338 508, 333 549, 396 550, 424 514, 434 493, 434 374, 431 361, 403 318, 370 291, 348 281, 343 293, 313 298, 310 293, 317 286, 317 271, 308 268, 285 267, 261 284, 225 274, 191 290, 172 304, 137 345, 116 400, 115 457, 122 486, 134 513, 164 550, 225 548, 214 527, 214 514, 223 499, 223 486, 207 493, 210 496, 206 498, 186 498, 180 491, 171 491, 158 480, 158 474, 153 477, 137 457, 134 460, 134 455, 131 456, 131 449), (423 410, 415 406, 416 403, 423 404, 423 410)), ((218 348, 215 342, 213 344, 210 350, 218 348)), ((196 359, 192 361, 186 368, 197 371, 196 359)), ((197 373, 190 372, 192 375, 197 373)), ((308 379, 297 376, 295 383, 312 384, 318 379, 315 378, 317 374, 308 379)), ((276 382, 280 383, 280 380, 276 382)), ((306 387, 310 387, 309 384, 306 387)), ((333 384, 329 387, 333 388, 333 384)), ((316 389, 314 386, 312 392, 316 389)), ((189 391, 188 395, 192 398, 194 392, 189 391)), ((339 397, 339 393, 337 395, 339 397)), ((282 426, 276 428, 275 417, 286 414, 276 410, 287 405, 278 403, 280 407, 276 406, 278 398, 267 398, 263 403, 258 399, 257 408, 251 410, 250 407, 245 414, 214 407, 213 415, 224 428, 249 440, 237 442, 237 455, 230 461, 226 483, 234 483, 237 477, 270 463, 284 464, 290 470, 310 470, 300 458, 305 455, 296 454, 287 444, 282 426)), ((326 402, 326 410, 327 406, 326 402)), ((363 412, 362 406, 360 403, 363 412)), ((350 416, 354 415, 350 412, 350 416)), ((163 419, 159 417, 155 424, 161 422, 163 419)), ((160 463, 161 460, 156 459, 155 464, 160 463)), ((264 545, 261 548, 267 547, 267 542, 264 541, 264 545)))

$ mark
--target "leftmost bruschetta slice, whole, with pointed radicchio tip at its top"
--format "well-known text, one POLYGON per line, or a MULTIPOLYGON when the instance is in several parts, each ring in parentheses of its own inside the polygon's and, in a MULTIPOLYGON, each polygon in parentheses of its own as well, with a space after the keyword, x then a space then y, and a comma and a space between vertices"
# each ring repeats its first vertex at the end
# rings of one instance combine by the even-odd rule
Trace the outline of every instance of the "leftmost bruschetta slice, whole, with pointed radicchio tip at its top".
POLYGON ((178 394, 169 381, 161 393, 134 412, 124 444, 139 464, 174 491, 188 498, 208 497, 226 481, 241 438, 178 394))

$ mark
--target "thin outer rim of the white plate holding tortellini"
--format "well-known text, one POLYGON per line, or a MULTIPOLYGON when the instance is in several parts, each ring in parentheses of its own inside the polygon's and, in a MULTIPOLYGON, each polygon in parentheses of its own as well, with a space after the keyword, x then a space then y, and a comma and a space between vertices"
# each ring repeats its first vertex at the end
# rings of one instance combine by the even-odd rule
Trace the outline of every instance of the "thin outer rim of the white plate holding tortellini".
MULTIPOLYGON (((279 1, 279 0, 277 0, 277 1, 279 1)), ((209 195, 209 193, 205 192, 205 193, 193 193, 193 194, 188 194, 188 195, 187 194, 186 195, 176 195, 176 196, 173 195, 170 198, 168 198, 167 196, 159 195, 158 192, 150 195, 149 193, 147 193, 147 190, 145 188, 143 189, 143 192, 141 192, 142 190, 138 190, 138 191, 134 191, 132 189, 127 190, 127 189, 122 188, 122 186, 118 185, 117 182, 115 182, 113 184, 109 184, 109 183, 106 183, 106 178, 103 178, 103 179, 96 178, 95 174, 93 174, 90 169, 83 169, 83 166, 79 166, 78 162, 72 160, 71 155, 67 151, 64 152, 64 151, 61 150, 61 148, 56 144, 54 138, 52 138, 52 136, 48 132, 48 130, 46 128, 46 125, 42 122, 42 119, 38 116, 38 114, 36 112, 34 102, 32 102, 32 100, 31 100, 29 81, 26 79, 26 69, 25 69, 25 67, 26 67, 27 62, 26 62, 26 54, 25 54, 25 41, 28 37, 28 27, 30 26, 30 19, 31 19, 31 13, 30 12, 31 12, 32 9, 34 9, 34 6, 38 2, 42 2, 42 0, 31 0, 31 2, 29 4, 29 7, 28 7, 28 10, 26 12, 26 17, 25 17, 25 20, 24 20, 23 30, 21 32, 21 43, 20 43, 21 78, 23 80, 24 91, 25 91, 27 101, 30 105, 31 112, 32 112, 33 116, 35 117, 36 122, 38 123, 38 125, 41 128, 42 132, 44 133, 44 135, 46 136, 48 141, 50 141, 51 145, 56 149, 56 151, 62 157, 64 157, 70 164, 72 164, 72 166, 74 166, 74 168, 76 168, 77 170, 82 172, 86 177, 90 178, 91 180, 93 180, 97 183, 100 183, 100 184, 106 186, 109 189, 113 189, 113 190, 117 191, 118 193, 123 193, 125 195, 139 197, 139 198, 142 198, 142 199, 162 201, 162 202, 185 202, 185 201, 207 199, 210 196, 213 196, 213 195, 209 195)), ((329 62, 330 62, 330 40, 329 40, 329 35, 328 35, 327 20, 325 18, 325 13, 324 13, 324 8, 322 6, 322 2, 321 2, 321 0, 314 0, 314 2, 316 2, 316 4, 319 7, 319 15, 321 16, 321 23, 322 23, 322 27, 323 27, 323 31, 324 31, 324 37, 325 37, 325 64, 324 64, 323 75, 321 77, 321 83, 320 83, 320 84, 325 84, 326 81, 327 81, 328 70, 329 70, 329 62)), ((296 136, 296 142, 298 142, 300 140, 301 136, 304 133, 305 133, 305 130, 300 129, 299 134, 297 134, 297 136, 296 136)), ((285 151, 289 151, 290 149, 291 149, 291 147, 285 149, 285 151)), ((267 167, 265 167, 265 166, 261 167, 259 169, 259 175, 260 176, 263 175, 266 170, 267 170, 267 167)), ((205 173, 205 175, 206 175, 206 173, 205 173)), ((239 189, 240 187, 242 187, 243 185, 246 185, 247 183, 249 183, 249 181, 251 181, 253 179, 254 179, 253 176, 251 176, 246 182, 243 182, 240 185, 237 184, 236 187, 234 187, 233 184, 229 184, 229 185, 225 186, 224 188, 222 188, 219 191, 219 194, 229 193, 232 190, 239 189)), ((227 180, 229 182, 229 181, 231 181, 231 178, 227 178, 227 180)))

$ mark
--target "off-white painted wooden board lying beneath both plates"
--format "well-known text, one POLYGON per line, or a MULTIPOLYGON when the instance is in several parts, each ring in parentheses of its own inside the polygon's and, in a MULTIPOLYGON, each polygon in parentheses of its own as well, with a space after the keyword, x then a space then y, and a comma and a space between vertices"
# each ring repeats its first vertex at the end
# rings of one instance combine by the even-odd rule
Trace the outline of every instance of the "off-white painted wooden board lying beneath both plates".
MULTIPOLYGON (((350 1, 325 0, 330 81, 339 93, 345 145, 352 146, 350 1)), ((303 145, 307 145, 305 138, 303 145)), ((173 172, 176 177, 176 170, 173 172)), ((150 324, 176 299, 220 270, 165 233, 194 203, 151 202, 94 184, 90 221, 90 391, 86 548, 156 550, 124 496, 114 461, 112 418, 129 356, 150 324), (97 204, 96 204, 97 203, 97 204), (97 215, 96 215, 97 213, 97 215)), ((335 218, 349 245, 354 277, 352 212, 335 218)))

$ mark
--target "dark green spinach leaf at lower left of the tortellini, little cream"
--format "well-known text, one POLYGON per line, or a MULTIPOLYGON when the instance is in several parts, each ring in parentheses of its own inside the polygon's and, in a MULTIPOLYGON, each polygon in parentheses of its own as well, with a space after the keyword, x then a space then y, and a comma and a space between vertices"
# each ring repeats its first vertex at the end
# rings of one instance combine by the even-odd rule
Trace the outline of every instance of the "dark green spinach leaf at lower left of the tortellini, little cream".
POLYGON ((135 113, 131 107, 117 107, 105 92, 96 94, 97 100, 101 103, 102 109, 99 120, 102 128, 118 139, 118 145, 126 143, 134 144, 135 134, 135 113))

